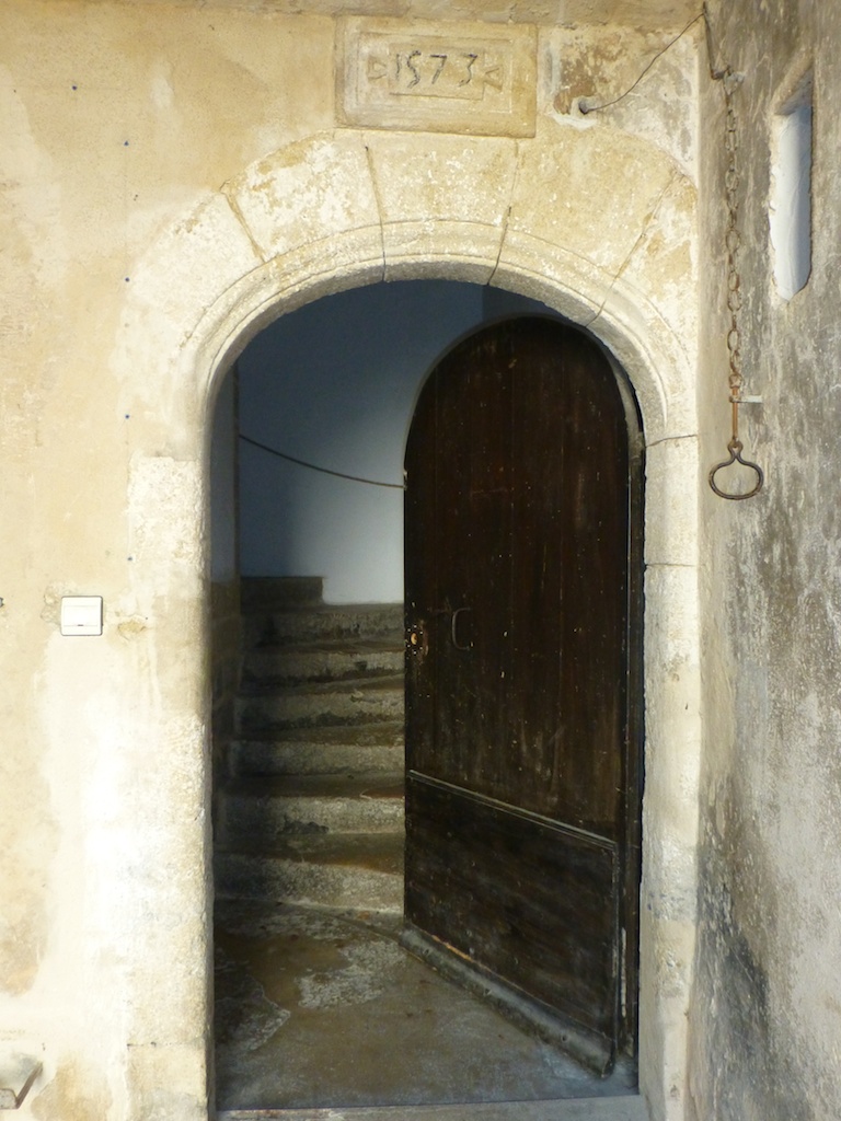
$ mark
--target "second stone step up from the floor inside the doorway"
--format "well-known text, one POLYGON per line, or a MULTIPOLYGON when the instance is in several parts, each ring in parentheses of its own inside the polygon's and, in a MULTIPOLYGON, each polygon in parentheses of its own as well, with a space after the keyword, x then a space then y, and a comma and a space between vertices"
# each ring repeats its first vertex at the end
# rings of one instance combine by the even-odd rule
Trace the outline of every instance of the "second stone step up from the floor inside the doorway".
POLYGON ((403 775, 241 778, 220 791, 218 844, 271 850, 289 834, 389 833, 404 827, 403 775))

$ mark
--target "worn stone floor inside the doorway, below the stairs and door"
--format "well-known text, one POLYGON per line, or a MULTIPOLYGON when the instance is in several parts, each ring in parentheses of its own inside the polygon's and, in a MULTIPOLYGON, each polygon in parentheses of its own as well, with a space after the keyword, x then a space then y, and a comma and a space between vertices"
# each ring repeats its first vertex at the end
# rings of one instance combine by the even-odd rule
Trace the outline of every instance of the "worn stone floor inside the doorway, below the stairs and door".
POLYGON ((220 901, 220 1118, 644 1117, 632 1072, 591 1075, 412 957, 399 927, 395 912, 220 901))

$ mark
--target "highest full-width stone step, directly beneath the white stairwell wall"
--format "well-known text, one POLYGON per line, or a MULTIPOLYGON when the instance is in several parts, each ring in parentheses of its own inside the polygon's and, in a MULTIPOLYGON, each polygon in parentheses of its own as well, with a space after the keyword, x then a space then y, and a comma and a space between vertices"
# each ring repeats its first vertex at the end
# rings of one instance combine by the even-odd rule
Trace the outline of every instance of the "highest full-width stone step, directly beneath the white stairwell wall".
POLYGON ((312 604, 290 611, 253 611, 242 620, 244 648, 260 642, 314 642, 323 639, 401 640, 401 603, 312 604))

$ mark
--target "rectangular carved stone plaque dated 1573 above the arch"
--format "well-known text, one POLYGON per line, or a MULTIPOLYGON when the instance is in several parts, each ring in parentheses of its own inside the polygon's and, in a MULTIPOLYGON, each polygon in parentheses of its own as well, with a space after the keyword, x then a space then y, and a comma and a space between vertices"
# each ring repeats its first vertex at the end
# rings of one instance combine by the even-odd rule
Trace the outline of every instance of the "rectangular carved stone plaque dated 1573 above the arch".
POLYGON ((535 135, 534 27, 339 21, 336 105, 343 124, 469 136, 535 135))

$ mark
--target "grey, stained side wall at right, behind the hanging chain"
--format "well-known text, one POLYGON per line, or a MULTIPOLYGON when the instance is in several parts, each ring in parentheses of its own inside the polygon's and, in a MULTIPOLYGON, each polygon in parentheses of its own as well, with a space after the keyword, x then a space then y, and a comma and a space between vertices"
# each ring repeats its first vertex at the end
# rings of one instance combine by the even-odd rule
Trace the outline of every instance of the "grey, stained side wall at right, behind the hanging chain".
MULTIPOLYGON (((712 4, 733 94, 745 311, 746 502, 703 490, 704 770, 693 1117, 841 1115, 841 714, 838 354, 841 25, 832 4, 712 4), (768 207, 774 117, 813 72, 812 274, 775 290, 768 207)), ((706 467, 724 457, 723 92, 703 99, 701 377, 706 467)))

